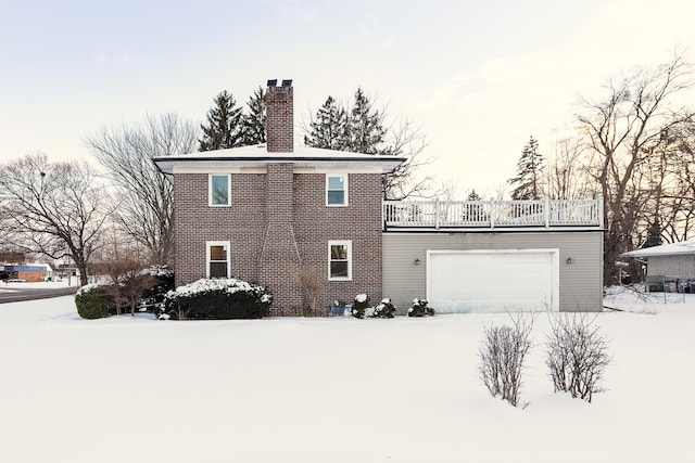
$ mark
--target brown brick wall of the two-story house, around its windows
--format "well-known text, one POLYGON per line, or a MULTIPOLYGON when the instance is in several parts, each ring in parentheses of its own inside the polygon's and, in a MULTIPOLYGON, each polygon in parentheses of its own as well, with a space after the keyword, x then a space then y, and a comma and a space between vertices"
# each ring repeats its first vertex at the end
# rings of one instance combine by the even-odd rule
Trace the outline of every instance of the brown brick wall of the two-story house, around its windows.
POLYGON ((327 207, 324 173, 293 173, 289 163, 268 173, 235 173, 231 206, 207 206, 207 175, 177 175, 176 284, 204 278, 205 242, 230 241, 231 275, 268 286, 274 311, 301 307, 301 265, 324 276, 318 303, 351 303, 381 294, 381 177, 350 175, 346 207, 327 207), (266 202, 266 198, 269 201, 266 202), (352 241, 352 281, 328 281, 328 242, 352 241))

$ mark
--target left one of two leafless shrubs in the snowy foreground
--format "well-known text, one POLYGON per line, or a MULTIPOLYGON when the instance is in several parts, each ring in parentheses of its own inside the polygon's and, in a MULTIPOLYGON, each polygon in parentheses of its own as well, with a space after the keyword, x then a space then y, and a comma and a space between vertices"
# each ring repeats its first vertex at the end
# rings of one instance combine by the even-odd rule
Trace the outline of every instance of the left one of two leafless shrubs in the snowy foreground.
POLYGON ((529 335, 534 317, 511 318, 513 326, 485 326, 479 349, 478 373, 492 397, 501 396, 514 407, 519 403, 523 358, 531 347, 529 335))

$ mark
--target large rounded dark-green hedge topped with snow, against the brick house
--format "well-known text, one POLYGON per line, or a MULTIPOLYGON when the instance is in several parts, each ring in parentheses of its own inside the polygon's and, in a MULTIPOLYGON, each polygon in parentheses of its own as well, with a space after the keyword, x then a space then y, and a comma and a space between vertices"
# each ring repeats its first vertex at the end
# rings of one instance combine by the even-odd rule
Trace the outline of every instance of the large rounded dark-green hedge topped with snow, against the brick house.
POLYGON ((166 294, 164 314, 174 320, 260 319, 273 296, 265 287, 237 279, 201 279, 166 294))

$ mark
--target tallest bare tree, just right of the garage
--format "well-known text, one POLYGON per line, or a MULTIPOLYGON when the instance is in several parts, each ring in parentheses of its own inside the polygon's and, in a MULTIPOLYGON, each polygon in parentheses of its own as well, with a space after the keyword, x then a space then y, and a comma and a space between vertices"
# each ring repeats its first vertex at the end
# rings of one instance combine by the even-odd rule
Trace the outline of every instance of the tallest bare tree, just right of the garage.
POLYGON ((692 66, 681 54, 655 69, 637 69, 619 81, 611 80, 607 95, 584 100, 579 115, 590 156, 590 171, 604 197, 606 236, 604 279, 619 282, 616 261, 631 250, 645 191, 636 182, 640 167, 655 155, 652 147, 665 131, 691 119, 674 106, 674 99, 693 85, 692 66))

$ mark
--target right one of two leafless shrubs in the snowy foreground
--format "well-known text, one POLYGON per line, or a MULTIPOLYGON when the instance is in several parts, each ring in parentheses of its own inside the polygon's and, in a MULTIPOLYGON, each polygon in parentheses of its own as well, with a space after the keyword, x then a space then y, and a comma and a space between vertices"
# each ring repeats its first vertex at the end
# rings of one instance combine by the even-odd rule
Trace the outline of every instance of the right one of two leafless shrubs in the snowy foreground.
POLYGON ((551 318, 545 364, 555 391, 570 393, 591 403, 610 362, 608 343, 585 313, 563 313, 551 318))

